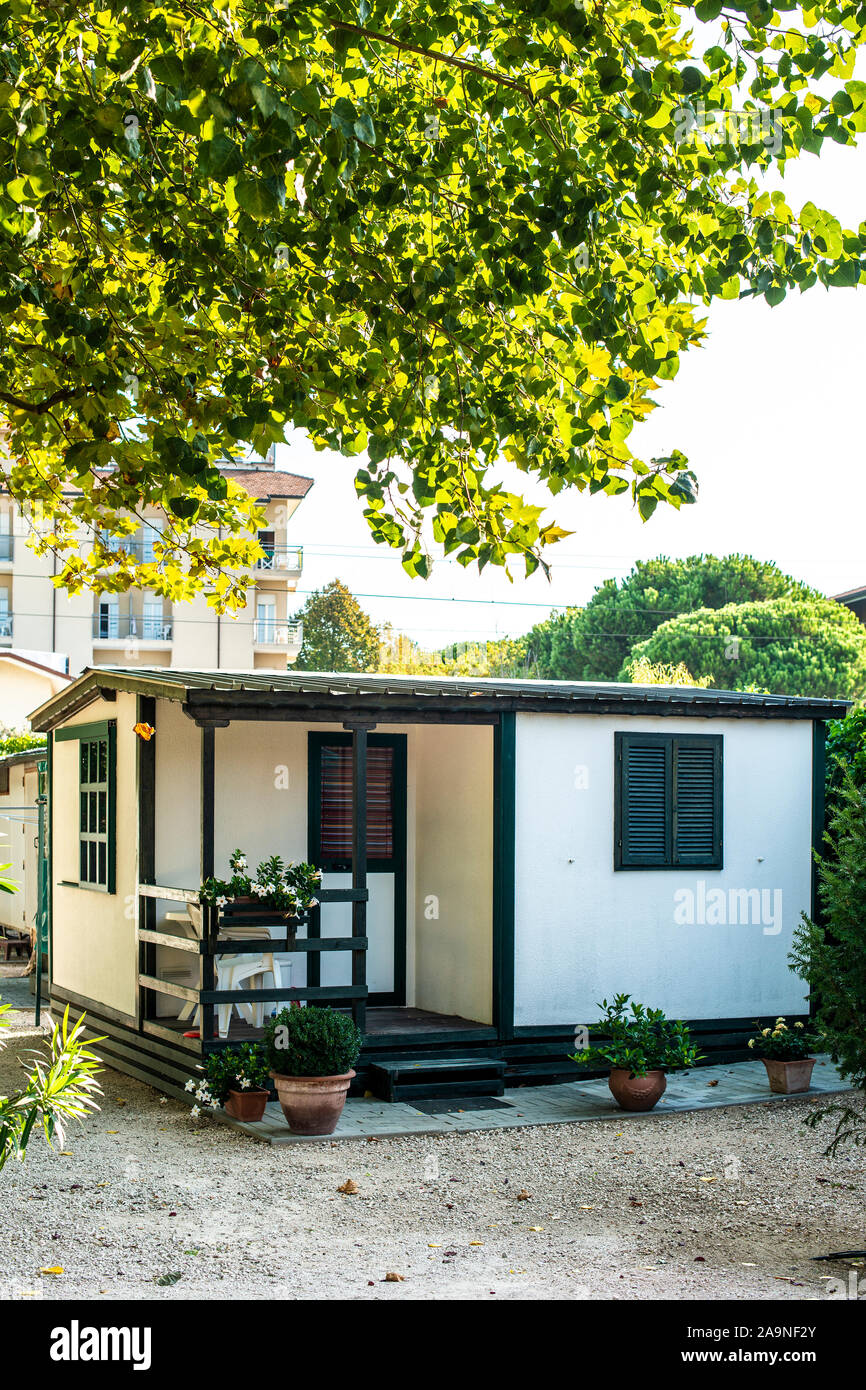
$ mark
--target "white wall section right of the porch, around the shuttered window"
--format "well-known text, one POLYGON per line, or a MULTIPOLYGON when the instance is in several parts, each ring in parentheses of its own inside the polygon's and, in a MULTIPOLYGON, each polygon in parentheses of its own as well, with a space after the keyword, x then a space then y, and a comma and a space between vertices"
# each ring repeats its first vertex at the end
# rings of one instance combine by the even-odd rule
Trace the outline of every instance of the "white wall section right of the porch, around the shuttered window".
POLYGON ((810 905, 810 720, 527 713, 516 759, 517 1026, 592 1023, 617 992, 688 1019, 805 1012, 787 955, 810 905), (617 731, 724 735, 723 869, 614 872, 617 731), (780 890, 781 929, 677 924, 699 880, 780 890))

